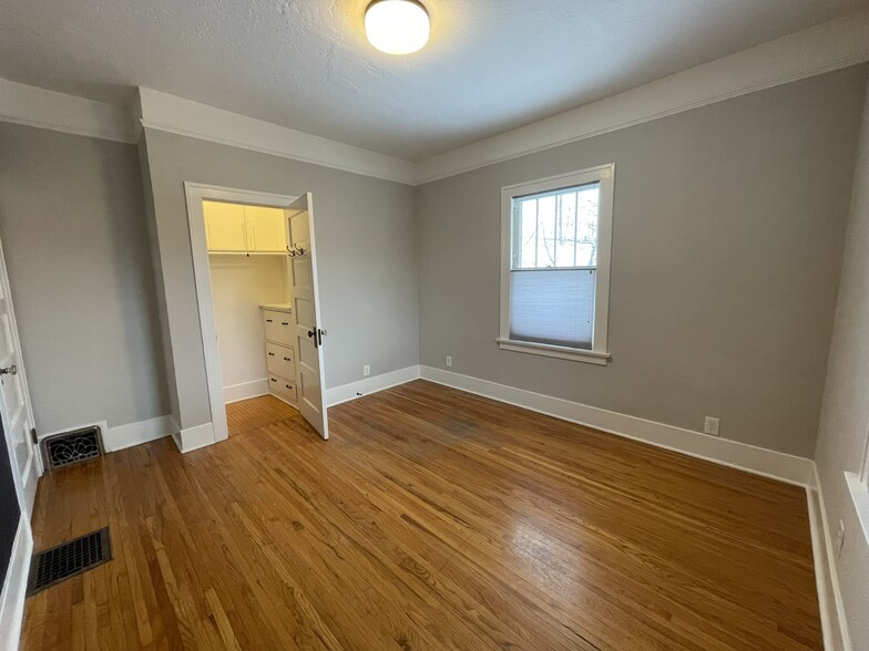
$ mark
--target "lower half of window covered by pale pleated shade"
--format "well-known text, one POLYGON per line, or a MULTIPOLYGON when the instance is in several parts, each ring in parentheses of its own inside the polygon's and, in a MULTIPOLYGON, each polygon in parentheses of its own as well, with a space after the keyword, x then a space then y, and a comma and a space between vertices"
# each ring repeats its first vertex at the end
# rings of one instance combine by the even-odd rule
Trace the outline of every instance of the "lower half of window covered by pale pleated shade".
POLYGON ((592 348, 597 271, 510 272, 510 339, 592 348))

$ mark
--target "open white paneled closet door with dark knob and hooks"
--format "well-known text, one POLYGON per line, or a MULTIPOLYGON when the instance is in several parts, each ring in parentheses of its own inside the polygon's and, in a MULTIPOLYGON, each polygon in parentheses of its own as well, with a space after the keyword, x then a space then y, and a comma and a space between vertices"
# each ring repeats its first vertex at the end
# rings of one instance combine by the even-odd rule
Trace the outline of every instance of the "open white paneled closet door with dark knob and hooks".
POLYGON ((317 249, 314 240, 314 206, 310 193, 286 209, 289 282, 293 288, 293 318, 296 343, 296 384, 301 415, 329 437, 324 388, 323 341, 317 293, 317 249))

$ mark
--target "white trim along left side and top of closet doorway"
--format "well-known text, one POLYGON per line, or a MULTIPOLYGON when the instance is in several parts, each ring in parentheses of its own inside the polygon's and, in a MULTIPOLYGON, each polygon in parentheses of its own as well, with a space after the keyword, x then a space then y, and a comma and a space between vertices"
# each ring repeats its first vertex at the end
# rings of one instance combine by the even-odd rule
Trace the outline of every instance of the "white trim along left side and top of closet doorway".
POLYGON ((187 200, 187 223, 191 234, 200 332, 202 333, 202 348, 205 356, 205 376, 208 383, 208 402, 214 426, 214 442, 216 443, 228 438, 229 430, 226 424, 223 380, 221 379, 221 355, 217 349, 217 324, 214 319, 212 277, 208 267, 208 247, 205 238, 205 215, 202 202, 203 199, 214 199, 286 208, 298 197, 191 182, 184 182, 184 194, 187 200))

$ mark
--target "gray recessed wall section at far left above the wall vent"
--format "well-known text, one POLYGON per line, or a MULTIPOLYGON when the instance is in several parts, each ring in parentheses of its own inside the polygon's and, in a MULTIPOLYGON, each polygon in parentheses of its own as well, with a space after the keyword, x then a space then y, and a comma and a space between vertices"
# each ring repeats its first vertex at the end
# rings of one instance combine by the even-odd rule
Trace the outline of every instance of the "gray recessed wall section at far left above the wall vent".
POLYGON ((0 238, 37 427, 167 412, 136 149, 0 123, 0 238))

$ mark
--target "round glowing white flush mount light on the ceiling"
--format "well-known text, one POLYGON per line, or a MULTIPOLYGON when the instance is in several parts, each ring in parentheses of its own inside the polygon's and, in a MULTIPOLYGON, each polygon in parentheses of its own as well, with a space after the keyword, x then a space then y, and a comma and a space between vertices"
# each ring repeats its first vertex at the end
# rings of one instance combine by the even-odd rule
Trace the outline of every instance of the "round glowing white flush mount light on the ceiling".
POLYGON ((410 54, 429 40, 429 13, 417 0, 375 0, 365 10, 365 33, 388 54, 410 54))

